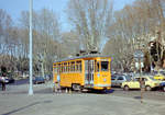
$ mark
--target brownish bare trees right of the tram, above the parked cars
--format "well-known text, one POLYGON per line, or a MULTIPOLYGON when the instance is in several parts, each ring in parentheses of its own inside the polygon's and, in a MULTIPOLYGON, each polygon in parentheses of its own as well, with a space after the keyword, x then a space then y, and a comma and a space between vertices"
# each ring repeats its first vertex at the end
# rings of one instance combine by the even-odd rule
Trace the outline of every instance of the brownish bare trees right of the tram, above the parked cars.
MULTIPOLYGON (((160 43, 165 44, 163 43, 165 41, 164 12, 165 0, 136 0, 114 12, 113 24, 109 27, 111 38, 105 47, 105 53, 113 57, 113 66, 130 70, 133 54, 138 48, 141 48, 145 55, 150 55, 147 43, 153 37, 158 38, 157 31, 161 32, 160 43)), ((147 60, 152 60, 152 57, 150 58, 147 60)), ((163 56, 160 57, 160 60, 162 59, 163 56)))

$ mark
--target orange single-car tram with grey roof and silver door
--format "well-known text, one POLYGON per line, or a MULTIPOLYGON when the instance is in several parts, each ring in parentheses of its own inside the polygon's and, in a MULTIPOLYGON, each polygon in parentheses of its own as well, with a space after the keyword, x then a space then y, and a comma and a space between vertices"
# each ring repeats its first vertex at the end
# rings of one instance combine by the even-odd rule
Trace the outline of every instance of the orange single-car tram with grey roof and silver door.
POLYGON ((53 64, 53 82, 61 78, 62 88, 73 90, 110 90, 111 58, 108 56, 79 56, 57 60, 53 64))

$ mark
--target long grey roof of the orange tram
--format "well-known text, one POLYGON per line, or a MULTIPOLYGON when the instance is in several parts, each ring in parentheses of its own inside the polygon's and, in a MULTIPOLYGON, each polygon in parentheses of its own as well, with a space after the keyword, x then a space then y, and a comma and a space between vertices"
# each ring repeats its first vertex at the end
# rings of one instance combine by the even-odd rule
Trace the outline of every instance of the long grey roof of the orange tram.
POLYGON ((76 56, 76 57, 68 57, 64 59, 58 59, 54 62, 61 62, 61 61, 67 61, 67 60, 74 60, 74 59, 81 59, 81 58, 95 58, 95 57, 103 57, 103 58, 109 58, 110 56, 106 55, 85 55, 85 56, 76 56))

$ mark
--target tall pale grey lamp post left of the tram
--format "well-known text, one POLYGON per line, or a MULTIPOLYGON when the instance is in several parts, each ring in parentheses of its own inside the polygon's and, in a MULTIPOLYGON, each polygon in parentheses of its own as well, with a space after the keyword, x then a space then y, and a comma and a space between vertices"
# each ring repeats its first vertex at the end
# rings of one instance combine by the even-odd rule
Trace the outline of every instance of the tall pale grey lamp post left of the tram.
POLYGON ((33 54, 32 54, 32 39, 33 39, 33 33, 32 33, 32 5, 33 5, 33 0, 30 0, 30 87, 29 87, 29 95, 33 95, 33 83, 32 83, 32 76, 33 76, 33 54))

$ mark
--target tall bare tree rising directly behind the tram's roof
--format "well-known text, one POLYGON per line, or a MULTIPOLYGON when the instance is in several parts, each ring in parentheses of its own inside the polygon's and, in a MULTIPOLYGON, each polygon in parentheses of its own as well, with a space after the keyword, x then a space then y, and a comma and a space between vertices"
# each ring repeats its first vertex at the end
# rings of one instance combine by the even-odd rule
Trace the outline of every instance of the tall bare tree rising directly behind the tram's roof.
POLYGON ((101 42, 106 41, 106 32, 112 21, 112 2, 110 0, 69 0, 67 14, 84 48, 100 51, 101 42))

